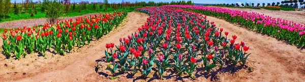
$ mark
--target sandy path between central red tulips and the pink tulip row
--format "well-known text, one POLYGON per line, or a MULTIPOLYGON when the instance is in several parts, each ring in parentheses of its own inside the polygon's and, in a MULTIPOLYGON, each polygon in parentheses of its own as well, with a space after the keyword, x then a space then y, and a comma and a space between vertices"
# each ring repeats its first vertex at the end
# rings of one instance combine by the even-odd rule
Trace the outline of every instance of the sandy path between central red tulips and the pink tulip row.
POLYGON ((249 64, 254 71, 239 71, 236 74, 222 74, 222 81, 303 81, 305 79, 305 51, 286 45, 276 38, 261 35, 214 17, 207 17, 216 25, 229 31, 229 37, 237 35, 235 43, 245 41, 250 46, 249 64))

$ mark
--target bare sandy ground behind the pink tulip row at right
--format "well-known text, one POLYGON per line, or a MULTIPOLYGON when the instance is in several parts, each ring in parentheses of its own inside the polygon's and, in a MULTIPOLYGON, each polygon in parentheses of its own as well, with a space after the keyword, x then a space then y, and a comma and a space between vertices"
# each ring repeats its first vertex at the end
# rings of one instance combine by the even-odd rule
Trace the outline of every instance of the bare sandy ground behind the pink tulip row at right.
POLYGON ((282 18, 286 19, 288 21, 294 21, 296 23, 305 24, 305 12, 303 11, 270 11, 265 9, 248 9, 248 8, 228 8, 223 7, 227 9, 233 9, 233 10, 241 10, 241 11, 248 11, 248 12, 256 12, 259 14, 264 14, 271 16, 273 18, 282 18))

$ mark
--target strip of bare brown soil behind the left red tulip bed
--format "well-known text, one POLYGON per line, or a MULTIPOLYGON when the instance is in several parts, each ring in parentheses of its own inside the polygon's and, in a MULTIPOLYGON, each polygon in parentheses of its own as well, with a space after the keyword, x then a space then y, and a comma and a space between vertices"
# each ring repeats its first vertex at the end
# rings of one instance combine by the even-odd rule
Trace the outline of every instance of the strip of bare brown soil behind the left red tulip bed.
MULTIPOLYGON (((73 19, 75 20, 78 17, 83 17, 83 16, 90 16, 90 15, 95 15, 99 13, 91 13, 91 14, 84 14, 80 16, 74 16, 74 17, 60 17, 59 19, 73 19)), ((22 19, 22 20, 15 20, 15 21, 7 21, 7 22, 2 22, 0 23, 0 28, 18 28, 18 27, 32 27, 37 25, 44 25, 47 22, 46 18, 38 18, 38 19, 22 19)))

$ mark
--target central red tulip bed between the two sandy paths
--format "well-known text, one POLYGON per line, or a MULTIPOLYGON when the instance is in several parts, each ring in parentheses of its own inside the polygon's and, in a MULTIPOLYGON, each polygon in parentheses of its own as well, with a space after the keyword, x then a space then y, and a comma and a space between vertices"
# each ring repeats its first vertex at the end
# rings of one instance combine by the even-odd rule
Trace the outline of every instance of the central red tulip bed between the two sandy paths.
POLYGON ((114 76, 140 71, 145 78, 155 71, 156 77, 162 79, 164 71, 173 69, 179 76, 188 73, 195 77, 193 71, 198 69, 209 73, 227 65, 243 66, 250 55, 244 42, 235 42, 236 35, 230 38, 229 32, 217 29, 202 14, 170 7, 135 11, 150 15, 146 23, 138 32, 120 38, 120 44, 106 44, 106 62, 112 62, 107 70, 114 76))

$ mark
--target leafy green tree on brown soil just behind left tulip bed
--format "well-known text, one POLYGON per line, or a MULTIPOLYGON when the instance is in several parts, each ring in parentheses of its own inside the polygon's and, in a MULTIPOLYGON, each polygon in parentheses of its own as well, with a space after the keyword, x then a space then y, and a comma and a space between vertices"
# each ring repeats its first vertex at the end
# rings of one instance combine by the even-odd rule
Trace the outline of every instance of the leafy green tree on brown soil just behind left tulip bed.
POLYGON ((44 0, 43 3, 46 5, 43 5, 45 7, 46 11, 46 20, 49 23, 53 23, 55 20, 57 20, 60 16, 63 15, 63 5, 58 3, 57 0, 44 0))

